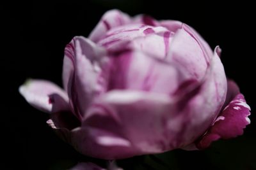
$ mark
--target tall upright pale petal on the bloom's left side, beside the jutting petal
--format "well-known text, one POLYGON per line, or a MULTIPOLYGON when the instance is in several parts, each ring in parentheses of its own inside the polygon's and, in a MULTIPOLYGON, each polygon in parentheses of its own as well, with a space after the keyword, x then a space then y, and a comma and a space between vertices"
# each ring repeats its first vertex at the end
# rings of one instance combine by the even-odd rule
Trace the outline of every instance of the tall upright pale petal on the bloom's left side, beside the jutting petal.
POLYGON ((103 48, 81 36, 72 39, 65 48, 63 84, 77 118, 83 116, 93 97, 104 91, 101 84, 104 82, 98 79, 104 55, 103 48))

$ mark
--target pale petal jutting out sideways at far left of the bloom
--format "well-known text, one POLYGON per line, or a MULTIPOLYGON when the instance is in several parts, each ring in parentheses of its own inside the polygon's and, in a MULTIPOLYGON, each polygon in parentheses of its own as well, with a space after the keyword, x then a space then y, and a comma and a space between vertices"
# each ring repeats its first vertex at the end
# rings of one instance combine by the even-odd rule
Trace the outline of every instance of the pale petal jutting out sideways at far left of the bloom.
POLYGON ((47 113, 70 110, 66 92, 51 81, 28 80, 19 87, 19 92, 38 110, 47 113))

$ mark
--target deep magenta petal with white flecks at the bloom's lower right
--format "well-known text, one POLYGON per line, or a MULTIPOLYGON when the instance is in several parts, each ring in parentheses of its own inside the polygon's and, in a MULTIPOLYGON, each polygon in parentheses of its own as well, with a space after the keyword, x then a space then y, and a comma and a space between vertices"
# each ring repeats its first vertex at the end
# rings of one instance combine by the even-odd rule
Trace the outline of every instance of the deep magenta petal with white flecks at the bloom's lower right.
POLYGON ((250 106, 246 104, 243 94, 236 97, 220 113, 214 124, 198 141, 199 149, 207 148, 212 141, 235 138, 243 134, 243 129, 250 124, 250 106))

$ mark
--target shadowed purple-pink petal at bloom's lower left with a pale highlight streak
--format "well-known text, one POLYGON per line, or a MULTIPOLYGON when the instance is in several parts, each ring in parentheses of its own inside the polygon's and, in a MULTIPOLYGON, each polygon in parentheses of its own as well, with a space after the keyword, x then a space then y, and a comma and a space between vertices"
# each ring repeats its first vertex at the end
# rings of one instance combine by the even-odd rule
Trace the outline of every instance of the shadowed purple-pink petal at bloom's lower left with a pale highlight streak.
POLYGON ((71 143, 84 155, 98 159, 122 159, 138 155, 131 142, 113 132, 95 127, 78 127, 71 131, 71 143))

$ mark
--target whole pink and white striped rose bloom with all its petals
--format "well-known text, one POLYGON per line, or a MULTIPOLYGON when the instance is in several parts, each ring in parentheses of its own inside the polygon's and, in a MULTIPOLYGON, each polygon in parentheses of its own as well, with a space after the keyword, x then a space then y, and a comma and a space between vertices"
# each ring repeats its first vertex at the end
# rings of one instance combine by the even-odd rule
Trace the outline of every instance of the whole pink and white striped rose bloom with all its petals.
POLYGON ((63 89, 29 80, 19 92, 90 157, 203 149, 250 124, 250 107, 227 80, 220 53, 182 22, 111 10, 88 38, 66 46, 63 89))

